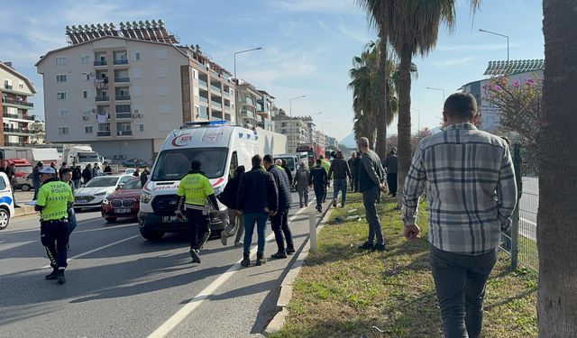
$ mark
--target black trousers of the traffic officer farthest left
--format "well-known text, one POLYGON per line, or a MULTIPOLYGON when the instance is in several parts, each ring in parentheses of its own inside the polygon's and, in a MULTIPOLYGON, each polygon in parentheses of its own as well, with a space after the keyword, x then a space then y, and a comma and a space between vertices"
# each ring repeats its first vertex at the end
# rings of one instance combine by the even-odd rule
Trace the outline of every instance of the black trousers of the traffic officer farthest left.
POLYGON ((41 222, 40 241, 46 247, 46 255, 53 269, 64 269, 68 266, 69 223, 64 221, 41 222))

